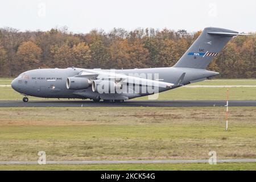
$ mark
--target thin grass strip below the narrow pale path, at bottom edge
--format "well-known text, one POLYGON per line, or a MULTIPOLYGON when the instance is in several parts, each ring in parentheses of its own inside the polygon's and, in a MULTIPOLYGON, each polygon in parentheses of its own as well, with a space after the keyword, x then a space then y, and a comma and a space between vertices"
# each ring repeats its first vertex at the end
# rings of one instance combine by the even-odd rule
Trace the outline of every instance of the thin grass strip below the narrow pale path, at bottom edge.
POLYGON ((210 164, 47 164, 47 165, 0 165, 1 170, 246 170, 254 171, 256 163, 210 164))

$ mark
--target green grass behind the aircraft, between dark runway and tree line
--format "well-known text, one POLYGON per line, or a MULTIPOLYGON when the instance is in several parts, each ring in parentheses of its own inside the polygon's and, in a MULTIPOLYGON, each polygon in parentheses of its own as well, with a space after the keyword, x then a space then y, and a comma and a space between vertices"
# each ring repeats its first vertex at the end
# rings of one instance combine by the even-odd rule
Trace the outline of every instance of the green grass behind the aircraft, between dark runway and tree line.
MULTIPOLYGON (((10 85, 10 78, 1 78, 0 85, 10 85)), ((256 80, 207 80, 191 85, 256 85, 256 80)), ((177 88, 159 94, 158 100, 225 100, 227 88, 177 88)), ((229 88, 230 100, 256 100, 256 88, 229 88)), ((0 87, 0 100, 22 100, 23 96, 11 87, 0 87)), ((45 98, 30 97, 30 100, 46 100, 45 98)), ((51 99, 55 100, 55 99, 51 99)), ((147 100, 147 97, 136 98, 147 100)))

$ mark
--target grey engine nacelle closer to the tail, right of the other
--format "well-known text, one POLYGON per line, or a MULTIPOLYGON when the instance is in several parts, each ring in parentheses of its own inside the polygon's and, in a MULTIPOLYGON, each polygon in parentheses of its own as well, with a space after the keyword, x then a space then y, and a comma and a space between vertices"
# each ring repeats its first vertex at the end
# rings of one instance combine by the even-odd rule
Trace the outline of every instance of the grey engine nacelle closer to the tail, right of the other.
POLYGON ((115 93, 115 90, 121 88, 121 84, 111 80, 93 80, 92 91, 98 93, 115 93))

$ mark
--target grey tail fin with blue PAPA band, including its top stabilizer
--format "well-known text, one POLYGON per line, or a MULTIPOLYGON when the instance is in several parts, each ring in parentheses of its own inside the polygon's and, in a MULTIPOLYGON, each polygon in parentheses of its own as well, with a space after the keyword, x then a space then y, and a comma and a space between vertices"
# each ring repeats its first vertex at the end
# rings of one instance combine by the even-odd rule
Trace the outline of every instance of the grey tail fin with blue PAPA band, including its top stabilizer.
POLYGON ((174 67, 207 68, 229 40, 237 35, 246 34, 238 34, 236 31, 224 28, 205 28, 199 38, 189 47, 174 67))

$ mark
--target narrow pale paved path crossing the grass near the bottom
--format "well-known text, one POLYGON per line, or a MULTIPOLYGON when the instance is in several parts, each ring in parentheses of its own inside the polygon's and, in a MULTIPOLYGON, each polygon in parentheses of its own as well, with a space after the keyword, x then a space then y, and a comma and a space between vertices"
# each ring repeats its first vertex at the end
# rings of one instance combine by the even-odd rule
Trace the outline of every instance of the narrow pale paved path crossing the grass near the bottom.
MULTIPOLYGON (((151 163, 208 163, 208 160, 92 160, 47 161, 46 164, 151 164, 151 163)), ((255 163, 256 159, 222 159, 217 163, 255 163)), ((0 161, 0 164, 38 164, 36 161, 0 161)))

